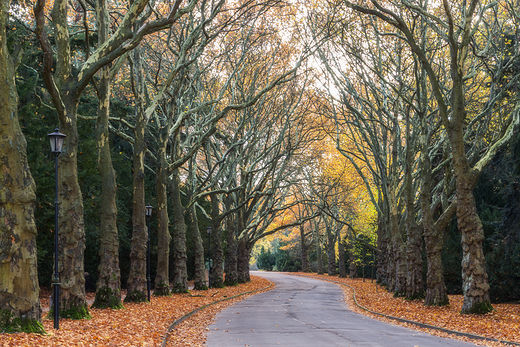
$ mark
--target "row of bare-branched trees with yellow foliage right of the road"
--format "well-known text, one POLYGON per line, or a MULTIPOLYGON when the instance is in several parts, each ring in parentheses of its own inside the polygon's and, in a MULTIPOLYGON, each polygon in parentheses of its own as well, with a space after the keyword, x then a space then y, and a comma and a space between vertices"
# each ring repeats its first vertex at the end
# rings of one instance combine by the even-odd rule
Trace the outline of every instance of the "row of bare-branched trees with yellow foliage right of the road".
POLYGON ((377 209, 379 280, 396 295, 447 304, 443 235, 456 215, 462 312, 488 312, 473 190, 520 120, 517 4, 338 1, 311 17, 310 35, 326 41, 323 114, 377 209))

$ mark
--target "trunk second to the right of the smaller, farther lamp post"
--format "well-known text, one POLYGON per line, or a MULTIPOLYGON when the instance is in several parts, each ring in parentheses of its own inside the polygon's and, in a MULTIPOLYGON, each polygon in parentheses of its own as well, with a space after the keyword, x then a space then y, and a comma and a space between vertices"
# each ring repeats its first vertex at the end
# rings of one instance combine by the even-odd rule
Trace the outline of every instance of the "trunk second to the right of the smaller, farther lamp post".
POLYGON ((186 223, 181 202, 179 170, 174 170, 170 181, 173 203, 173 286, 174 293, 188 292, 188 268, 186 255, 186 223))

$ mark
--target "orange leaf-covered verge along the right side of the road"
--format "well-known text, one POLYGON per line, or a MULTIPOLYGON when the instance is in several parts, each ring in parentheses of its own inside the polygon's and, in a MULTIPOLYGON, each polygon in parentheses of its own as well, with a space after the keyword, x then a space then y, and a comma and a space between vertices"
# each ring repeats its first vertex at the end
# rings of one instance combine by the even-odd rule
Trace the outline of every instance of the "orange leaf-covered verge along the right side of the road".
POLYGON ((505 340, 520 346, 520 304, 493 304, 494 311, 484 315, 463 315, 462 295, 450 295, 450 304, 444 307, 426 307, 423 300, 406 300, 394 298, 392 293, 383 287, 371 282, 370 279, 339 278, 337 276, 294 273, 321 280, 345 284, 342 286, 345 292, 345 301, 349 308, 355 312, 372 318, 387 321, 391 324, 403 325, 412 329, 428 332, 433 335, 451 337, 459 340, 470 341, 474 344, 485 346, 511 346, 499 342, 475 340, 464 336, 455 336, 435 329, 419 328, 409 323, 401 323, 380 315, 375 315, 359 308, 353 299, 353 289, 357 303, 383 315, 406 319, 422 324, 441 327, 447 330, 484 336, 497 340, 505 340), (348 287, 350 286, 350 287, 348 287), (353 288, 353 289, 352 289, 353 288))

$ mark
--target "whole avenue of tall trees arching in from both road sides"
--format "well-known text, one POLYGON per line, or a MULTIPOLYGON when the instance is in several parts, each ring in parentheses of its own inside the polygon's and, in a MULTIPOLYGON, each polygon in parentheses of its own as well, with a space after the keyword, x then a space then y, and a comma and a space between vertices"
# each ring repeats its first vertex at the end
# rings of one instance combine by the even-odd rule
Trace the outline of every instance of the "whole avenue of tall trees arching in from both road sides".
POLYGON ((514 0, 5 0, 0 332, 43 332, 56 126, 62 317, 147 302, 148 240, 154 295, 369 252, 446 305, 449 248, 462 313, 518 300, 519 80, 514 0))

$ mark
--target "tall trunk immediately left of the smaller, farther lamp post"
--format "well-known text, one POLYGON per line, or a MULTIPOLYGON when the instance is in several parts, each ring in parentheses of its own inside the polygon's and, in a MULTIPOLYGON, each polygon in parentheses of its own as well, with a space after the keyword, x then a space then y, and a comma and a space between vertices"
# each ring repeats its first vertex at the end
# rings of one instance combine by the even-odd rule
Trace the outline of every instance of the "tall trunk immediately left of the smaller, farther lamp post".
POLYGON ((132 244, 130 250, 130 274, 128 276, 126 302, 148 301, 146 283, 146 246, 148 230, 145 221, 145 187, 144 187, 144 157, 146 151, 144 115, 144 80, 141 68, 141 54, 139 48, 132 52, 132 74, 136 90, 136 122, 134 142, 134 177, 133 177, 133 204, 132 204, 132 244))

